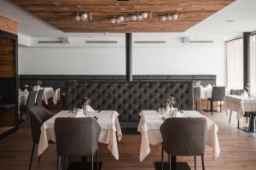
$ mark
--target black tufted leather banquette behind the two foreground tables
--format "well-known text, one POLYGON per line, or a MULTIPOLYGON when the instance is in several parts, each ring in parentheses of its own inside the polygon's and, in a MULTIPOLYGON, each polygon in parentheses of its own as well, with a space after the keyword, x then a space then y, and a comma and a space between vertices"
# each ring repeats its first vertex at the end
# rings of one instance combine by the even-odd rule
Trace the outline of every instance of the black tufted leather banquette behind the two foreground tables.
POLYGON ((95 110, 118 111, 120 122, 138 122, 142 110, 157 110, 171 94, 177 107, 192 110, 193 82, 65 82, 64 106, 81 106, 89 96, 95 110))

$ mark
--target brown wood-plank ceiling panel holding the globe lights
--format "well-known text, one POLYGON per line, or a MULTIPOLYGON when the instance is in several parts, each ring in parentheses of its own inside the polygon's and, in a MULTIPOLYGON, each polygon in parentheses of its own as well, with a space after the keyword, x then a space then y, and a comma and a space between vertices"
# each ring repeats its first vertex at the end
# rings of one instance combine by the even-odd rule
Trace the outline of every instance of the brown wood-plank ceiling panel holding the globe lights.
POLYGON ((64 32, 183 32, 235 0, 11 0, 64 32), (91 20, 74 15, 90 13, 91 20), (131 14, 152 12, 152 18, 130 20, 131 14), (178 14, 177 20, 160 21, 161 15, 178 14), (121 24, 111 24, 123 15, 121 24))

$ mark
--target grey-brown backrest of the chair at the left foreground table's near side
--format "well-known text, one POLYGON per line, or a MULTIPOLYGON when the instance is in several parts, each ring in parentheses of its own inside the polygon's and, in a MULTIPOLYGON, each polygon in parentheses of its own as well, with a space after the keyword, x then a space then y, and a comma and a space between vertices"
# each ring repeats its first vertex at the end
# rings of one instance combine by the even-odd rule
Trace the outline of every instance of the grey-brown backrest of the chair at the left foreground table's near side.
POLYGON ((94 118, 56 118, 58 156, 93 156, 98 147, 100 133, 101 127, 94 118))

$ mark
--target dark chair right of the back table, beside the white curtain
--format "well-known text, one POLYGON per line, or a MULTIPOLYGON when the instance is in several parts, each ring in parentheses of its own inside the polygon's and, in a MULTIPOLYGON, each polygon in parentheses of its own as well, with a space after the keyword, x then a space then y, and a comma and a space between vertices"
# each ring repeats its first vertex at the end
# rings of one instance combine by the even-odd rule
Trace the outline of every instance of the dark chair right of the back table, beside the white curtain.
POLYGON ((225 96, 225 87, 219 86, 219 87, 212 87, 212 98, 207 99, 207 111, 208 111, 208 103, 210 101, 211 103, 211 111, 213 114, 213 101, 220 101, 220 112, 221 112, 221 102, 224 101, 225 96))

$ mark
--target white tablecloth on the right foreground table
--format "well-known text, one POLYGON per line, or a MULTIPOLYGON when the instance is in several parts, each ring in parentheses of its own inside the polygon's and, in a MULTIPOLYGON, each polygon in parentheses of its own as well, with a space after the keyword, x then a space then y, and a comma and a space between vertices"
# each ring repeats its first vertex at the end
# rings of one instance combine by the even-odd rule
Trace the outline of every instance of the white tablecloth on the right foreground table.
MULTIPOLYGON (((149 144, 162 143, 163 139, 160 133, 160 126, 164 121, 162 118, 163 115, 157 111, 141 111, 140 115, 141 119, 137 127, 137 131, 141 133, 142 136, 139 160, 143 161, 150 153, 149 144)), ((218 126, 206 116, 201 115, 198 111, 183 111, 182 115, 205 117, 207 119, 207 144, 212 147, 213 159, 216 159, 220 154, 218 144, 218 126)))

